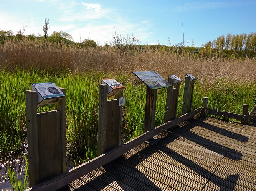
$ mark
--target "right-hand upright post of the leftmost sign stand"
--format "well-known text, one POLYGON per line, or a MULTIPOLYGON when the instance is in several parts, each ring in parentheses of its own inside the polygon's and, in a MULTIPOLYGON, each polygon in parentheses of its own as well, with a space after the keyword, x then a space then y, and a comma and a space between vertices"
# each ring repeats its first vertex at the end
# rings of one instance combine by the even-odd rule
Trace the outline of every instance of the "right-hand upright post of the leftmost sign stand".
MULTIPOLYGON (((66 89, 59 87, 60 91, 66 95, 66 89)), ((61 173, 66 172, 66 99, 62 99, 55 104, 55 109, 60 112, 60 136, 61 136, 61 173)))

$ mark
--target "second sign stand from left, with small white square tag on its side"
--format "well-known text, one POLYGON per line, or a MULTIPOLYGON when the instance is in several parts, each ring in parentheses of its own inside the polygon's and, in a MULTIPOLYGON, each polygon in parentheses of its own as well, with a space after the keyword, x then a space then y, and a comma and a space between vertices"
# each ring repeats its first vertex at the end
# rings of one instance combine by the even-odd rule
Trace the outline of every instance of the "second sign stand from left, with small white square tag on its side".
POLYGON ((124 86, 114 79, 103 79, 99 84, 99 120, 97 156, 120 146, 124 86), (107 97, 115 96, 113 100, 107 97))

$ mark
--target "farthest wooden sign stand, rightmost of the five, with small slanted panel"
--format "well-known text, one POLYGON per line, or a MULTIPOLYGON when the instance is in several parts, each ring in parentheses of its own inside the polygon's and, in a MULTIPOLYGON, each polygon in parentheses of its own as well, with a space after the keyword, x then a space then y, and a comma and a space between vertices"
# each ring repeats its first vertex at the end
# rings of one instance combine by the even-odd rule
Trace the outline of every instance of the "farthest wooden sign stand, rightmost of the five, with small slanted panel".
POLYGON ((182 103, 182 115, 191 111, 193 91, 196 79, 197 78, 195 78, 191 74, 186 74, 182 103))

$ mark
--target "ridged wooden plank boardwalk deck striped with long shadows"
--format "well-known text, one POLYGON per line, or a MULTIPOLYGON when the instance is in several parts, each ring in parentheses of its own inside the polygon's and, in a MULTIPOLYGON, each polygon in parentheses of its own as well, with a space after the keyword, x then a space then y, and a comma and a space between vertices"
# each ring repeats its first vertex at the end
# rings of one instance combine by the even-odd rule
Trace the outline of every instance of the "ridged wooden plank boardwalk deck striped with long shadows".
POLYGON ((256 120, 191 119, 62 190, 256 190, 256 120))

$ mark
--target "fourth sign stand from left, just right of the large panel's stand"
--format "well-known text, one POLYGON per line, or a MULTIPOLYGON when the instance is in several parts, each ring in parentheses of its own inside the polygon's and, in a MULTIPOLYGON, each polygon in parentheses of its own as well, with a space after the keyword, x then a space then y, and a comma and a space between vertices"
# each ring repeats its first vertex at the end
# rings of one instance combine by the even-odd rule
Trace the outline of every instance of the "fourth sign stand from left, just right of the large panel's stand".
POLYGON ((180 82, 182 79, 175 75, 169 75, 168 82, 172 84, 167 87, 164 123, 173 120, 177 116, 178 95, 180 90, 180 82))

